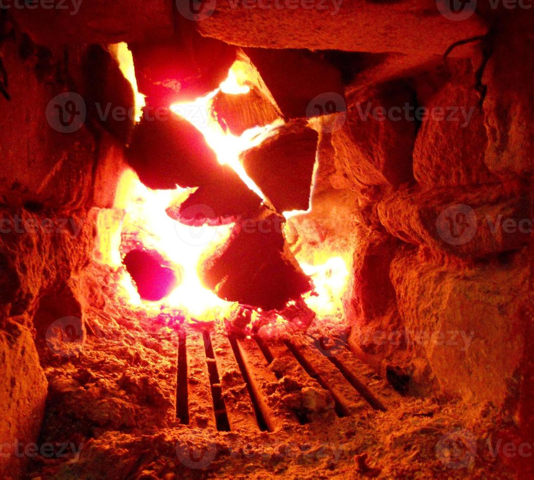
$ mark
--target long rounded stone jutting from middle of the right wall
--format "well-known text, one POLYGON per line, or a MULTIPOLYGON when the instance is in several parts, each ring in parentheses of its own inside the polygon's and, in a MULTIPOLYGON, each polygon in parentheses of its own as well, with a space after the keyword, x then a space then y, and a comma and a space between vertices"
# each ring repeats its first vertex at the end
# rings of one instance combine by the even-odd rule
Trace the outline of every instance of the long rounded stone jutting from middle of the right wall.
POLYGON ((386 230, 405 242, 484 256, 528 243, 528 224, 522 221, 528 219, 529 199, 518 190, 500 184, 468 191, 415 187, 384 198, 378 214, 386 230))

